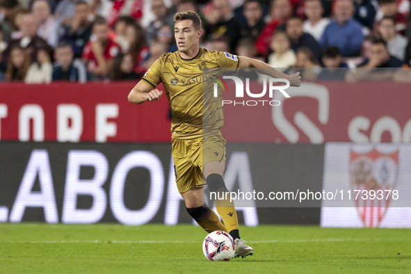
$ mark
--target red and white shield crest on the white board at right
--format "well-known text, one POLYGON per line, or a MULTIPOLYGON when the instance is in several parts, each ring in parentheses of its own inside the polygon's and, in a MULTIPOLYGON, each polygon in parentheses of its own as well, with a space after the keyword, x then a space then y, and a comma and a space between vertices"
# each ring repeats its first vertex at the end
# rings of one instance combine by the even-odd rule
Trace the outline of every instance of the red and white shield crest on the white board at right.
POLYGON ((396 186, 398 150, 392 154, 383 154, 375 148, 365 154, 351 150, 350 178, 353 193, 351 199, 355 200, 364 227, 378 227, 387 212, 392 190, 396 186))

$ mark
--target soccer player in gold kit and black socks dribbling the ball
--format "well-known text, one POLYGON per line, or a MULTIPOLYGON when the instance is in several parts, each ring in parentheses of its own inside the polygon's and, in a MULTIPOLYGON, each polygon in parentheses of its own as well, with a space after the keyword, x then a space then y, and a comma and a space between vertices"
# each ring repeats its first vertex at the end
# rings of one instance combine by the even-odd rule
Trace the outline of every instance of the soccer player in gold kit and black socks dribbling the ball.
MULTIPOLYGON (((234 202, 216 199, 223 225, 203 200, 202 187, 206 184, 214 193, 228 191, 223 179, 226 166, 225 139, 221 136, 221 97, 203 106, 203 101, 210 99, 203 97, 203 85, 211 88, 209 83, 213 82, 207 81, 209 78, 204 77, 203 73, 220 67, 229 68, 232 72, 238 71, 239 67, 255 67, 259 73, 289 80, 291 86, 300 86, 300 73, 287 75, 252 58, 200 48, 202 31, 197 13, 177 13, 174 21, 178 51, 157 59, 131 90, 128 99, 134 104, 157 101, 163 92, 156 86, 163 83, 172 109, 172 156, 177 188, 186 202, 188 213, 207 232, 228 232, 236 244, 235 257, 252 255, 254 250, 245 245, 240 237, 234 202), (207 119, 203 117, 204 113, 207 113, 207 119), (203 118, 207 127, 203 124, 203 118)), ((212 89, 208 93, 213 94, 212 89)))

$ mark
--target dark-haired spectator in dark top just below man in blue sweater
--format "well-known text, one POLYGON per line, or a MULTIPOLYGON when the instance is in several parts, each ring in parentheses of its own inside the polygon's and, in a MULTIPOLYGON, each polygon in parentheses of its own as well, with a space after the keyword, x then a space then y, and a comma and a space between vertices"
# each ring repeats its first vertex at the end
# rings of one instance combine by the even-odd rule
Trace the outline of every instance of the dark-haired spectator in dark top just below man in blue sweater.
POLYGON ((344 80, 348 65, 344 63, 338 47, 324 49, 322 61, 324 69, 318 75, 319 80, 344 80))

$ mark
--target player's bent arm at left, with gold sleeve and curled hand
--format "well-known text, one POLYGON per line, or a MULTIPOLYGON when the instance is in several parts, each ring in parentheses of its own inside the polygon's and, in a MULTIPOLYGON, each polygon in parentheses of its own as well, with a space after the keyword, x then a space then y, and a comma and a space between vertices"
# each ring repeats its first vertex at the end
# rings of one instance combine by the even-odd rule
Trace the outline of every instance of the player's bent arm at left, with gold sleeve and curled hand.
POLYGON ((143 104, 145 101, 157 101, 163 92, 156 89, 156 86, 162 81, 163 64, 161 59, 157 59, 147 72, 143 79, 129 93, 129 102, 133 104, 143 104))

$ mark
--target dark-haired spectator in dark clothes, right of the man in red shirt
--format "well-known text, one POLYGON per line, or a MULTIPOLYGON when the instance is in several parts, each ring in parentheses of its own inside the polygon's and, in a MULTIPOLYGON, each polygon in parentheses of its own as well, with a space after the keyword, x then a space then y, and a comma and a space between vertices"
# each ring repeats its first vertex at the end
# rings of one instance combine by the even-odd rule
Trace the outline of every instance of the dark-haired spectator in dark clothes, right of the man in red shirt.
POLYGON ((138 75, 133 70, 134 59, 131 54, 118 54, 114 58, 113 70, 111 71, 111 80, 138 80, 140 75, 138 75))

